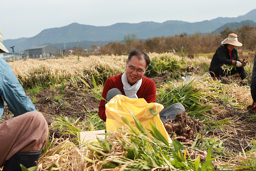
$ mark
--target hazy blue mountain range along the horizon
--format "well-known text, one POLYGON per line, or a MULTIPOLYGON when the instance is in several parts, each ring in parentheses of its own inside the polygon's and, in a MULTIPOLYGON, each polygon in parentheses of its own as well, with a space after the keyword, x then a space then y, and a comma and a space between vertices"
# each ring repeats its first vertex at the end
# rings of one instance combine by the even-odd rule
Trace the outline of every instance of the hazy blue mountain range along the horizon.
POLYGON ((91 26, 72 23, 60 28, 42 30, 42 32, 31 38, 4 40, 4 45, 6 47, 15 46, 20 50, 27 50, 43 44, 51 44, 58 48, 68 49, 76 46, 77 41, 80 41, 83 47, 91 45, 104 46, 109 42, 123 41, 124 36, 128 34, 135 34, 138 39, 146 40, 154 37, 172 36, 183 32, 189 35, 195 34, 196 32, 220 32, 226 27, 235 30, 242 25, 256 26, 255 22, 256 9, 248 12, 244 16, 238 16, 236 18, 218 17, 213 20, 194 23, 178 20, 168 20, 163 23, 116 23, 111 26, 91 26))

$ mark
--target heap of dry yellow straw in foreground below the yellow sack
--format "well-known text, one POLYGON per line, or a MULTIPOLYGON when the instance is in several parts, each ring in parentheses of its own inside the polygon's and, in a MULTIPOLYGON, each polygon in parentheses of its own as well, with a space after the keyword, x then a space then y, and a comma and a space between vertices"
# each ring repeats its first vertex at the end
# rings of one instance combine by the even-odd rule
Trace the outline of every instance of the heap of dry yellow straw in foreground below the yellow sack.
MULTIPOLYGON (((127 159, 124 154, 126 148, 132 143, 130 137, 132 133, 120 129, 116 133, 108 134, 107 143, 111 147, 107 153, 103 153, 102 148, 93 147, 88 143, 75 145, 70 139, 56 139, 55 147, 46 151, 38 161, 38 171, 46 170, 68 170, 68 171, 121 171, 125 167, 138 161, 127 159), (122 140, 122 141, 120 141, 122 140), (123 142, 126 143, 124 146, 123 142), (99 153, 97 153, 99 151, 99 153), (107 169, 103 165, 120 160, 127 165, 120 165, 114 169, 107 169)), ((93 143, 91 143, 93 144, 93 143)))

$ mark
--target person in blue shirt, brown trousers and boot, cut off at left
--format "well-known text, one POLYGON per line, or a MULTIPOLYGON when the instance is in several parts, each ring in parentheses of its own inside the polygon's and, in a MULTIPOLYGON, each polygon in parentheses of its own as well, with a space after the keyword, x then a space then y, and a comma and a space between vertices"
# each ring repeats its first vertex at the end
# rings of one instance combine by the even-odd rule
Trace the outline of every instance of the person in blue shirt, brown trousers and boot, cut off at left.
MULTIPOLYGON (((0 29, 0 53, 8 53, 0 29)), ((11 66, 0 59, 0 117, 4 101, 15 117, 0 124, 0 167, 3 171, 21 171, 36 166, 41 150, 46 144, 48 125, 19 83, 11 66)))

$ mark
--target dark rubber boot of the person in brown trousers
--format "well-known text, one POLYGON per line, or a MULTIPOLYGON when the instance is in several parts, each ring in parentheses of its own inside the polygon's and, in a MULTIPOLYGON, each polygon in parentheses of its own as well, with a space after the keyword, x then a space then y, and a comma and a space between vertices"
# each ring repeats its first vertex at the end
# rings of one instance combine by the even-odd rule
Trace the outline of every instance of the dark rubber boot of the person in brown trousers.
POLYGON ((20 164, 26 168, 36 166, 40 154, 41 151, 19 151, 6 161, 3 171, 22 171, 20 164))

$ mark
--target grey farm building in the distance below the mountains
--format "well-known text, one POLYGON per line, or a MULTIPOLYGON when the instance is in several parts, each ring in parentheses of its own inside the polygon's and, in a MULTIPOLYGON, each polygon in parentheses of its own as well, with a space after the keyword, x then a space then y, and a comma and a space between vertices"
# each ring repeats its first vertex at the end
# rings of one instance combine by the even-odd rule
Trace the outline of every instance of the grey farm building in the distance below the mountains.
POLYGON ((28 50, 29 58, 50 58, 55 57, 57 48, 50 45, 36 46, 28 50))

